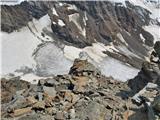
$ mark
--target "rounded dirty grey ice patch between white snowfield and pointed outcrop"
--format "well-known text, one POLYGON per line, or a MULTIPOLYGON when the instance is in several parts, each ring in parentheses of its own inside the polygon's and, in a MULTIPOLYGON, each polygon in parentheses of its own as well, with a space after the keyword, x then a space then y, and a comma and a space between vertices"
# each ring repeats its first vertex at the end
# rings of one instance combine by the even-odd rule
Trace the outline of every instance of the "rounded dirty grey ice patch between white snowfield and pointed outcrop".
POLYGON ((42 46, 36 53, 35 61, 37 74, 41 76, 67 74, 72 65, 54 43, 46 43, 42 46))

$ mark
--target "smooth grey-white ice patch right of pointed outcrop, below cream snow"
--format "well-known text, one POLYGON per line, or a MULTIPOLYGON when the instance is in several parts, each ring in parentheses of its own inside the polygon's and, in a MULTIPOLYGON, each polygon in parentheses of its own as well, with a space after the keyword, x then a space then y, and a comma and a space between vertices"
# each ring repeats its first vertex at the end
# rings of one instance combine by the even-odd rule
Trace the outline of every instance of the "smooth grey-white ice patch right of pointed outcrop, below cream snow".
POLYGON ((102 74, 112 76, 113 78, 124 82, 128 79, 134 78, 139 72, 138 69, 127 66, 111 57, 103 59, 99 64, 99 68, 102 74))

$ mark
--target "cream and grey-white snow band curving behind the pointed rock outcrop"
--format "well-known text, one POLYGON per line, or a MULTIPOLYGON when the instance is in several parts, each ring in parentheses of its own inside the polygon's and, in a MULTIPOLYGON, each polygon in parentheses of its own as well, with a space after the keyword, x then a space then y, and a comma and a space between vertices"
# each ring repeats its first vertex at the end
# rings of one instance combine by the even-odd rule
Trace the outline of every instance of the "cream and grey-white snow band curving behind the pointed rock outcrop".
MULTIPOLYGON (((75 58, 79 58, 80 52, 85 52, 89 56, 89 61, 92 61, 95 66, 98 66, 98 68, 102 71, 102 74, 112 76, 120 81, 127 81, 128 79, 135 77, 139 72, 138 69, 135 69, 130 65, 126 65, 103 53, 103 51, 106 51, 109 48, 110 50, 117 50, 114 46, 105 46, 102 43, 93 43, 92 46, 88 46, 83 49, 73 46, 65 46, 64 55, 73 61, 75 58)), ((133 55, 130 52, 128 54, 133 55)))

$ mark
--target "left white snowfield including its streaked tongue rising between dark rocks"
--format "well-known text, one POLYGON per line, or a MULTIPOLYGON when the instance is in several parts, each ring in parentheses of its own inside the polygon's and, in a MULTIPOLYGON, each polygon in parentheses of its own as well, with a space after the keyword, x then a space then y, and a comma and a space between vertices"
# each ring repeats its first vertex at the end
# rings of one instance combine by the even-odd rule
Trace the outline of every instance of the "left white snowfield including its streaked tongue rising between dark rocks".
POLYGON ((12 33, 0 32, 1 37, 1 71, 0 74, 13 73, 22 66, 34 68, 36 63, 32 56, 37 46, 41 44, 41 40, 52 40, 51 37, 42 37, 43 29, 51 31, 51 21, 48 15, 43 16, 39 20, 33 19, 28 23, 28 27, 23 27, 12 33))

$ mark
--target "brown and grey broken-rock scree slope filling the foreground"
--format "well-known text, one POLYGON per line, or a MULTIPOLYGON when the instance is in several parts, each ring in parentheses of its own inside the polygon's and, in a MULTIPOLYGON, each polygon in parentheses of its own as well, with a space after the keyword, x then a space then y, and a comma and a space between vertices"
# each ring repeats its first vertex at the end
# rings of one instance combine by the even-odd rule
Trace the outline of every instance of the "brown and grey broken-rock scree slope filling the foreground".
MULTIPOLYGON (((156 48, 159 43, 155 45, 156 57, 159 57, 159 47, 156 48)), ((155 64, 159 65, 158 61, 155 64)), ((150 70, 148 74, 152 73, 150 70)), ((41 79, 37 85, 18 77, 2 79, 1 117, 3 120, 159 120, 159 74, 154 74, 154 78, 158 78, 156 82, 139 79, 143 84, 134 90, 133 84, 139 85, 138 79, 116 81, 101 75, 87 60, 76 59, 69 74, 41 79)))

